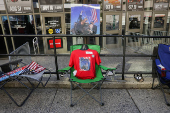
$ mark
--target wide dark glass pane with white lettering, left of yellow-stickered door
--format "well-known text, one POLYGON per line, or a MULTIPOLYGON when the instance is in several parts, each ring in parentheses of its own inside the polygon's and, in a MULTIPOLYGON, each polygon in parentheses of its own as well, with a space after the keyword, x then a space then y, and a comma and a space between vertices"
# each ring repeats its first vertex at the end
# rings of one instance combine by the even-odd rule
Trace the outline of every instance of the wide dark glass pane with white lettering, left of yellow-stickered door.
POLYGON ((9 16, 12 34, 35 34, 32 15, 9 16))

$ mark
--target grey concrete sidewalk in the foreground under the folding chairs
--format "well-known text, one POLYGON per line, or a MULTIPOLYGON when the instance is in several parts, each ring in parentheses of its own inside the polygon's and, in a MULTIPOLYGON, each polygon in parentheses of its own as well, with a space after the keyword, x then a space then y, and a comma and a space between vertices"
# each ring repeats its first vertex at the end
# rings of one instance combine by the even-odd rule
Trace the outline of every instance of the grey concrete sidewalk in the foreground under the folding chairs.
MULTIPOLYGON (((15 99, 21 101, 26 89, 7 89, 15 99)), ((86 89, 88 90, 88 89, 86 89)), ((89 96, 70 107, 70 89, 38 88, 22 107, 17 107, 3 91, 0 91, 0 113, 169 113, 158 89, 103 89, 105 105, 100 106, 89 96)), ((98 90, 90 92, 99 98, 98 90)), ((80 89, 73 92, 73 99, 82 95, 80 89)), ((170 95, 166 94, 170 101, 170 95)))

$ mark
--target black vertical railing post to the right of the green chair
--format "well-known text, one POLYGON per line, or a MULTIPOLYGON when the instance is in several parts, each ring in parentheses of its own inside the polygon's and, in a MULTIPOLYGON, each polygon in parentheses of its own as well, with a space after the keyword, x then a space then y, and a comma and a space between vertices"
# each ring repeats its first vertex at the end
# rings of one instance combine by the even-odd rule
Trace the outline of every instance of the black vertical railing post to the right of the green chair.
POLYGON ((124 80, 125 73, 125 54, 126 54, 126 37, 123 37, 123 66, 122 66, 122 80, 124 80))

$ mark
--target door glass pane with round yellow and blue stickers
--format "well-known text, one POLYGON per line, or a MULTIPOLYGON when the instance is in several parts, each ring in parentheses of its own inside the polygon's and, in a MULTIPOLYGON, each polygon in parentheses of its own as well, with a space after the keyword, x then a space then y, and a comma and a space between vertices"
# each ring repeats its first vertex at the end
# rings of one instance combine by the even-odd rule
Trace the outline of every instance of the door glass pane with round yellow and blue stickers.
POLYGON ((61 17, 45 17, 45 28, 46 28, 46 34, 62 33, 61 17))

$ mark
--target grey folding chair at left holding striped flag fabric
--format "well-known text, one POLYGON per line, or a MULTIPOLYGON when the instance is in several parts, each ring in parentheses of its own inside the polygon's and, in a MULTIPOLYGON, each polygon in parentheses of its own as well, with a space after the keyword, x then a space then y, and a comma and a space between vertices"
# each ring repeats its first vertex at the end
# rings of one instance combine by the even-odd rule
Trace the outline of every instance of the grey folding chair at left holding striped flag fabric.
MULTIPOLYGON (((15 51, 11 52, 10 54, 30 54, 30 47, 29 43, 25 43, 22 46, 18 47, 15 51)), ((6 64, 0 65, 1 67, 1 76, 0 76, 0 89, 3 90, 9 98, 18 106, 21 107, 30 97, 32 92, 41 84, 43 87, 46 86, 48 83, 51 74, 49 75, 45 84, 42 83, 43 73, 49 69, 37 64, 34 61, 31 61, 31 56, 10 56, 9 62, 6 64), (22 79, 26 79, 29 83, 29 86, 22 82, 22 79), (38 84, 34 84, 33 81, 35 80, 38 84), (5 84, 11 81, 17 81, 23 86, 25 86, 30 92, 26 96, 26 98, 19 104, 17 101, 11 96, 10 93, 5 90, 5 84)))

